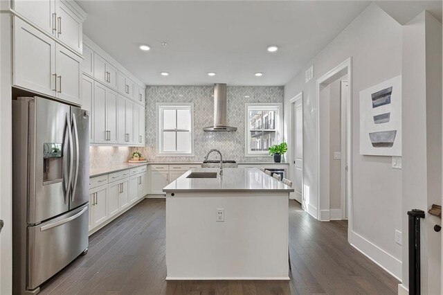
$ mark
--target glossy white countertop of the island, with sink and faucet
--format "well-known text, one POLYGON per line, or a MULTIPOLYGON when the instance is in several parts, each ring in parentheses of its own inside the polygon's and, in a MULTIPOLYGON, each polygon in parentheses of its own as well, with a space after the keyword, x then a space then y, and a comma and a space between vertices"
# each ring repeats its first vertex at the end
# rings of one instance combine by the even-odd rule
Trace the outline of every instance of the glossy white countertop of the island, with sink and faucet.
MULTIPOLYGON (((192 172, 218 172, 217 168, 200 168, 192 172)), ((281 181, 266 175, 257 168, 225 168, 223 177, 217 178, 186 178, 191 171, 185 172, 171 184, 163 188, 165 193, 197 193, 197 192, 266 192, 290 193, 290 188, 281 181)))

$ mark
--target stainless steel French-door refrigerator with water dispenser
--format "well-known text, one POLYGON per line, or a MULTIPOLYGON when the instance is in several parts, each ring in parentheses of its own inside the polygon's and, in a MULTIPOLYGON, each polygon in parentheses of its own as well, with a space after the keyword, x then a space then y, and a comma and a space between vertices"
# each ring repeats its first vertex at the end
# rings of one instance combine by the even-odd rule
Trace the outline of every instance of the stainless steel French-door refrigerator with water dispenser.
POLYGON ((17 98, 12 134, 13 292, 36 294, 87 252, 89 112, 17 98))

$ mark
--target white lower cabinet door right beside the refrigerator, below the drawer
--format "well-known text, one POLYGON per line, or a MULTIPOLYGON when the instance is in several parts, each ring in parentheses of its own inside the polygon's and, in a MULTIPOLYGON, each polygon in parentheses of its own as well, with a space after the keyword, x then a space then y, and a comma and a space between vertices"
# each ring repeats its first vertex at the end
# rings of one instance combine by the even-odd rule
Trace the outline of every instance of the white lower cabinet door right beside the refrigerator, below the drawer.
POLYGON ((89 190, 89 226, 93 229, 108 219, 108 185, 89 190))

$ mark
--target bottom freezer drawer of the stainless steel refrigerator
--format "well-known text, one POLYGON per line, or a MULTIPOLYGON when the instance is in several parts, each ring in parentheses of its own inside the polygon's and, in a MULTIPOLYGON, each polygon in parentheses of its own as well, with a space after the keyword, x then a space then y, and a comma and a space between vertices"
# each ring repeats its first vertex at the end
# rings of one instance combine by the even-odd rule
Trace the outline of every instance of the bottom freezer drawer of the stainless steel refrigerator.
POLYGON ((88 204, 37 226, 28 226, 28 289, 66 267, 88 247, 88 204))

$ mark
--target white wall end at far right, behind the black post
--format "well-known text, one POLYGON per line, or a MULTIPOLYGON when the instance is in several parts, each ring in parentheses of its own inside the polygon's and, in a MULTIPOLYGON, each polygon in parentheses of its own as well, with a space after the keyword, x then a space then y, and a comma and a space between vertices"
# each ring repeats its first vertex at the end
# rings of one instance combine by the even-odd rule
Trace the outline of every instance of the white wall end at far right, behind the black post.
MULTIPOLYGON (((408 217, 413 208, 428 211, 442 196, 442 24, 423 12, 404 26, 402 76, 403 273, 408 287, 408 217)), ((440 294, 441 221, 422 221, 422 293, 440 294)))

